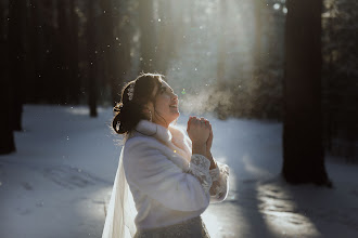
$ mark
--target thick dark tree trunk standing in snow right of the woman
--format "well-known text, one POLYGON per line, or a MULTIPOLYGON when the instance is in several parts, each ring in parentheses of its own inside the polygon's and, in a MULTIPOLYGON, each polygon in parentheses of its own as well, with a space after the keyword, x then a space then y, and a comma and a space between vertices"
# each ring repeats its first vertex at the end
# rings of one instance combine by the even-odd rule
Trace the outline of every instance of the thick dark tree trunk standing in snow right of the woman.
POLYGON ((289 183, 331 185, 321 119, 322 0, 290 0, 285 26, 282 174, 289 183))

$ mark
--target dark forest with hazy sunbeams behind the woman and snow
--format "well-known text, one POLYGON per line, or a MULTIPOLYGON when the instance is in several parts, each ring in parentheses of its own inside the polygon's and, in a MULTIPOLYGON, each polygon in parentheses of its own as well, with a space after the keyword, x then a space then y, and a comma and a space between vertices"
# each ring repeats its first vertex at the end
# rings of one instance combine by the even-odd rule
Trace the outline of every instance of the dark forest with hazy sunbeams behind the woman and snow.
MULTIPOLYGON (((357 161, 358 3, 297 2, 2 0, 1 153, 15 150, 13 132, 22 131, 24 104, 88 104, 95 117, 98 106, 113 106, 123 85, 144 71, 165 75, 188 114, 290 125, 298 119, 290 116, 287 102, 299 102, 294 110, 306 118, 294 133, 305 131, 307 141, 318 134, 318 154, 357 161), (311 32, 307 13, 319 16, 311 32), (307 30, 304 43, 290 37, 299 23, 307 30), (306 52, 304 62, 319 72, 307 77, 308 84, 306 77, 287 76, 305 70, 287 63, 295 58, 293 48, 306 52), (310 57, 314 51, 319 61, 310 57), (301 93, 292 93, 290 83, 301 93)), ((284 141, 285 148, 295 143, 284 141)))

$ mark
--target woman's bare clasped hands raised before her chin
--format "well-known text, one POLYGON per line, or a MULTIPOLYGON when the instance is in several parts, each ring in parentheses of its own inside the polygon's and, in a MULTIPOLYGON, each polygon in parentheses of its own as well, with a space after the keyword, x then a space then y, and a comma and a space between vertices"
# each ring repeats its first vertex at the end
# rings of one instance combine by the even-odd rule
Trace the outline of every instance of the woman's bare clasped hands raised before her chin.
POLYGON ((206 156, 207 142, 210 135, 210 124, 204 118, 190 117, 187 132, 192 141, 193 154, 206 156))

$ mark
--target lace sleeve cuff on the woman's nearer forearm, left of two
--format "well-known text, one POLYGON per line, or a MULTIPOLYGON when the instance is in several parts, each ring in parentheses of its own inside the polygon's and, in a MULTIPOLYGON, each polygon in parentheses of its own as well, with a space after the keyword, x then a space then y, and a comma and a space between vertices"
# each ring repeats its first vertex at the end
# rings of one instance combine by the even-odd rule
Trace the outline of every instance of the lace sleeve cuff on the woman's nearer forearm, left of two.
POLYGON ((206 194, 209 193, 213 184, 209 168, 210 161, 205 156, 199 154, 192 155, 188 173, 197 177, 206 194))

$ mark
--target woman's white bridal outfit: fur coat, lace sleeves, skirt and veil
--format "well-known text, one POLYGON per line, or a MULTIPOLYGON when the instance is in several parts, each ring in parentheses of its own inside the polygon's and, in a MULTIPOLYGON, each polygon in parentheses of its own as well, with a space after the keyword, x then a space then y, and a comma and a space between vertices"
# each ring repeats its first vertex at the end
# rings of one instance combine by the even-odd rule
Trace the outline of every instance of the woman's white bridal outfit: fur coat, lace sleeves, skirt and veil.
POLYGON ((140 121, 120 153, 102 238, 209 237, 201 214, 229 190, 229 167, 191 155, 180 130, 140 121))

